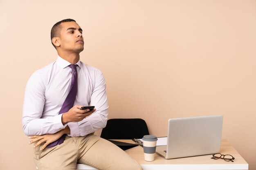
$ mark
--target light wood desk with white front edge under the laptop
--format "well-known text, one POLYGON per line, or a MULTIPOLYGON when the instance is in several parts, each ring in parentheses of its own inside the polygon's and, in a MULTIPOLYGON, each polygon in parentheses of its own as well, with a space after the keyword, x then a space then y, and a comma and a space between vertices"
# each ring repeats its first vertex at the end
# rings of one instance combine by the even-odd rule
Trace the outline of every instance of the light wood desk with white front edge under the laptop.
MULTIPOLYGON (((132 140, 118 140, 134 143, 132 140)), ((223 159, 211 159, 212 155, 203 155, 197 157, 186 157, 178 159, 164 159, 155 154, 155 161, 144 161, 143 148, 136 146, 126 150, 128 155, 135 159, 143 170, 248 170, 248 163, 239 155, 231 144, 222 139, 220 153, 229 154, 235 157, 234 162, 227 162, 223 159)), ((77 164, 77 170, 97 170, 91 166, 77 164)))

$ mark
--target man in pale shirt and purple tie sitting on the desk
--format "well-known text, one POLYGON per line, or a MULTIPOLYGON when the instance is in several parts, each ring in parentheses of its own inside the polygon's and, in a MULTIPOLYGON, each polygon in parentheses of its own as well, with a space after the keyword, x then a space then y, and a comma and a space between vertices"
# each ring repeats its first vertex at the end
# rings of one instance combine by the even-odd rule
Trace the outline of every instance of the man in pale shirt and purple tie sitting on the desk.
POLYGON ((126 152, 93 135, 106 126, 106 84, 101 71, 80 61, 80 26, 72 19, 57 22, 51 39, 58 58, 31 75, 23 106, 23 129, 38 169, 75 170, 79 162, 99 170, 141 170, 126 152), (89 105, 94 110, 80 110, 89 105))

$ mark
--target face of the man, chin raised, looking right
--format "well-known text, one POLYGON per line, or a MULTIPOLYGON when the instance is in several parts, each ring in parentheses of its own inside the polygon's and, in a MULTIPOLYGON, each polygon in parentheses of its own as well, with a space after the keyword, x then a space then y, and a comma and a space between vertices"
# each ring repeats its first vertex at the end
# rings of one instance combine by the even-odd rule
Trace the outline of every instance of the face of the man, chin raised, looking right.
POLYGON ((80 53, 83 51, 82 29, 76 22, 61 23, 61 31, 59 33, 60 50, 67 52, 80 53))

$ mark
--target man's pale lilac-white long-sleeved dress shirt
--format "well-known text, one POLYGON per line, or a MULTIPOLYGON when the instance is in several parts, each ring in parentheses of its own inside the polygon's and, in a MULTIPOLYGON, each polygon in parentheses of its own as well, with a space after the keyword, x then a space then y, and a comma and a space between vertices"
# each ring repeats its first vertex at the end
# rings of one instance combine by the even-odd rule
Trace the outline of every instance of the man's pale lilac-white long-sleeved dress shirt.
POLYGON ((58 113, 69 92, 73 75, 70 63, 58 56, 56 62, 34 72, 27 82, 22 117, 27 136, 53 134, 67 125, 70 136, 85 136, 106 126, 108 101, 103 74, 80 60, 76 64, 78 90, 74 105, 91 105, 97 110, 82 121, 62 124, 62 114, 58 113))

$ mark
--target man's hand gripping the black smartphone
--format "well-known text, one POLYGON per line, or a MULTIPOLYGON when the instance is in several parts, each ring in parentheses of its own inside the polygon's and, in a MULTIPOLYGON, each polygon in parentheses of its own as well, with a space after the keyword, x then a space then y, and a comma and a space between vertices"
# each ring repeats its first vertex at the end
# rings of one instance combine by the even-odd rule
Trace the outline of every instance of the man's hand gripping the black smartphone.
POLYGON ((95 112, 95 108, 93 110, 85 109, 80 110, 82 105, 75 105, 68 112, 63 113, 61 117, 62 124, 66 124, 68 122, 78 122, 83 120, 85 117, 91 115, 95 112))

